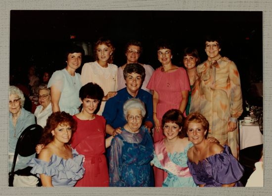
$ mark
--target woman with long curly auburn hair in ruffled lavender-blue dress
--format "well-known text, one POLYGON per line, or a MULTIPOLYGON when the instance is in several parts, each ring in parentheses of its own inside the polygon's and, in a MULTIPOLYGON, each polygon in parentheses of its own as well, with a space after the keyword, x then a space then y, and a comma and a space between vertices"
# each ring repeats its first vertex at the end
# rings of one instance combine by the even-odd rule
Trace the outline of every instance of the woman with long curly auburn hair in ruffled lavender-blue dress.
POLYGON ((55 112, 48 117, 40 140, 45 147, 39 159, 33 158, 28 163, 33 167, 31 173, 41 178, 43 187, 73 187, 83 177, 84 156, 68 144, 76 129, 76 121, 65 112, 55 112))

